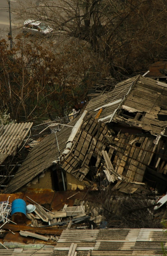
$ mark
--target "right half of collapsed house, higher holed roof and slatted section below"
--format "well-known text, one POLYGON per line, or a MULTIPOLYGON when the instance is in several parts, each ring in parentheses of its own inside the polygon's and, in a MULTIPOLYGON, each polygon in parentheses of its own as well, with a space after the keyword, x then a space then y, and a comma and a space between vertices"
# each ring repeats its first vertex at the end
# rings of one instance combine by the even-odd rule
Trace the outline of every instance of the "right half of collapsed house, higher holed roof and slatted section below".
POLYGON ((137 76, 89 101, 86 108, 113 131, 108 143, 114 171, 128 182, 145 182, 160 193, 167 190, 166 102, 167 84, 137 76))

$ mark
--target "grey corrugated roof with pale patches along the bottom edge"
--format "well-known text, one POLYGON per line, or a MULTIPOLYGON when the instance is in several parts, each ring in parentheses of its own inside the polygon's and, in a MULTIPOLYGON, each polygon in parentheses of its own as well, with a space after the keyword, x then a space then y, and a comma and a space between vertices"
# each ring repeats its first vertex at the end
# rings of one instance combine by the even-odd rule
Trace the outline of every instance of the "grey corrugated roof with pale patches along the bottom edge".
POLYGON ((162 229, 64 230, 53 255, 68 255, 72 242, 77 243, 77 255, 88 255, 92 241, 95 242, 91 248, 94 256, 161 255, 162 243, 166 247, 166 240, 162 229))

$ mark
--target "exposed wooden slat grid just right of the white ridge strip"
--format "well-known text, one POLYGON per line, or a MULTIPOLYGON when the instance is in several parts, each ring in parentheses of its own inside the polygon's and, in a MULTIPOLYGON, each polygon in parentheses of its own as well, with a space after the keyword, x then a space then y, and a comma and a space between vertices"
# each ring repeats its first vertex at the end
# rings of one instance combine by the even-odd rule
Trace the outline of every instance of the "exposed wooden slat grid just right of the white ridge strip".
POLYGON ((91 160, 95 166, 97 161, 98 165, 100 164, 101 151, 105 149, 105 135, 108 135, 108 129, 105 123, 98 121, 89 114, 84 117, 81 128, 74 138, 75 145, 62 166, 80 181, 89 172, 91 160))

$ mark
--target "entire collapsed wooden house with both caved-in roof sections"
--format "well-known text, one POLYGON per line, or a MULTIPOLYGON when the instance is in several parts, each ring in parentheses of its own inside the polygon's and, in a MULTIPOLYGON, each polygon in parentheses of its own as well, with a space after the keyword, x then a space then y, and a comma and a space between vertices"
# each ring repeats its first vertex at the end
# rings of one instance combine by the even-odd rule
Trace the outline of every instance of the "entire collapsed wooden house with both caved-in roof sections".
MULTIPOLYGON (((125 193, 148 192, 148 188, 166 192, 166 102, 165 83, 142 76, 118 83, 112 92, 89 101, 86 111, 56 133, 57 139, 51 133, 37 144, 5 193, 13 193, 34 179, 40 183, 46 170, 58 190, 63 179, 67 188, 70 174, 83 182, 78 188, 104 179, 105 186, 112 182, 113 190, 125 193)), ((99 189, 105 187, 101 184, 99 189)), ((98 184, 93 187, 98 189, 98 184)))

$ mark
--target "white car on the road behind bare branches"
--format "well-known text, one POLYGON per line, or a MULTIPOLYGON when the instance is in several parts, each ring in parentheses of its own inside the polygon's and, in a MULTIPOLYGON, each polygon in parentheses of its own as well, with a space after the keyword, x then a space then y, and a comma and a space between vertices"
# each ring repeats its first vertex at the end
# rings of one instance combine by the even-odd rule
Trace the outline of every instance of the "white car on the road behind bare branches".
POLYGON ((23 33, 30 32, 31 34, 41 34, 45 36, 51 36, 53 34, 53 28, 47 26, 41 21, 26 20, 23 24, 23 33))

